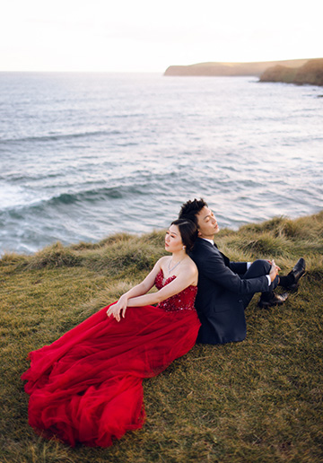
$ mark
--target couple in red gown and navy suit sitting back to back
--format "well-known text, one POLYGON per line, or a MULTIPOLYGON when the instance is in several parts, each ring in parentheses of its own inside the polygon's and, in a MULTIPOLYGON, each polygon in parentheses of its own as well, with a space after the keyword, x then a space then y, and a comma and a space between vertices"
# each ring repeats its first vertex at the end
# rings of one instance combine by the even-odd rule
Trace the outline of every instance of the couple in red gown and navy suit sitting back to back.
POLYGON ((166 232, 170 256, 160 258, 142 283, 29 354, 22 380, 31 396, 29 424, 37 432, 72 446, 109 447, 144 424, 144 378, 187 354, 196 339, 242 341, 244 310, 254 293, 269 307, 287 297, 274 293, 278 284, 297 288, 302 258, 287 276, 278 276, 274 262, 231 262, 214 245, 218 231, 205 201, 188 201, 166 232), (149 293, 153 285, 158 291, 149 293))

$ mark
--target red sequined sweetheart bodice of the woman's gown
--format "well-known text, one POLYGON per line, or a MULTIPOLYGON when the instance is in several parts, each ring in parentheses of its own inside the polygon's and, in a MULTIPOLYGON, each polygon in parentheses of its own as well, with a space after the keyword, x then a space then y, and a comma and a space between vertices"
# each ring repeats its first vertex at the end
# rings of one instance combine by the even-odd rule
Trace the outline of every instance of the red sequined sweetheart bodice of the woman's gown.
MULTIPOLYGON (((163 278, 162 270, 156 276, 155 286, 161 290, 166 284, 169 284, 176 278, 176 275, 169 276, 166 280, 163 278)), ((196 298, 197 286, 188 286, 178 294, 170 296, 165 301, 160 302, 157 307, 166 312, 178 312, 179 310, 196 310, 194 301, 196 298)))

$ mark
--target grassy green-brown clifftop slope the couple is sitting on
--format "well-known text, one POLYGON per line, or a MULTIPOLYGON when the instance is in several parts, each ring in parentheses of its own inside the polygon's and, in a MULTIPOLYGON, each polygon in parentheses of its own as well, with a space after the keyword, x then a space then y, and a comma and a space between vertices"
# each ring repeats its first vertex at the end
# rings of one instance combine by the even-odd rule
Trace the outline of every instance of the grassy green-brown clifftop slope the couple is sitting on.
POLYGON ((0 462, 319 462, 323 459, 323 212, 275 218, 217 237, 234 260, 275 258, 287 272, 307 260, 282 308, 247 310, 248 336, 196 345, 144 381, 147 421, 109 449, 70 449, 37 436, 20 376, 28 352, 49 344, 140 281, 164 255, 163 233, 59 243, 0 260, 0 462))

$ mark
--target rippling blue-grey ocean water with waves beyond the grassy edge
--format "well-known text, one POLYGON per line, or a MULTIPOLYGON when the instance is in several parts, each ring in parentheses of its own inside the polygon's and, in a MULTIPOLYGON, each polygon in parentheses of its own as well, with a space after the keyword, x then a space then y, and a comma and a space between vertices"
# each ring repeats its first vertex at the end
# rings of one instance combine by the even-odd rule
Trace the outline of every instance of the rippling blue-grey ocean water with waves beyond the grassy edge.
POLYGON ((256 77, 0 73, 0 254, 323 208, 323 89, 256 77))

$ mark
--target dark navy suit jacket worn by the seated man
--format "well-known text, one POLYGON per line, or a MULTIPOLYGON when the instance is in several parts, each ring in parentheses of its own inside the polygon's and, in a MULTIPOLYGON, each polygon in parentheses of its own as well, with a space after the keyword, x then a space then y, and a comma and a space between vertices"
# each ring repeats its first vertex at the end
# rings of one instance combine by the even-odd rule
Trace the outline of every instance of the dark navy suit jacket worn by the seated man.
POLYGON ((247 262, 231 262, 215 245, 197 238, 189 254, 198 269, 196 310, 201 321, 197 343, 224 344, 246 337, 241 296, 268 291, 266 275, 242 279, 247 262))

